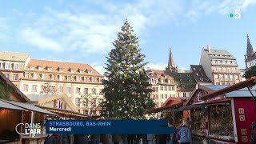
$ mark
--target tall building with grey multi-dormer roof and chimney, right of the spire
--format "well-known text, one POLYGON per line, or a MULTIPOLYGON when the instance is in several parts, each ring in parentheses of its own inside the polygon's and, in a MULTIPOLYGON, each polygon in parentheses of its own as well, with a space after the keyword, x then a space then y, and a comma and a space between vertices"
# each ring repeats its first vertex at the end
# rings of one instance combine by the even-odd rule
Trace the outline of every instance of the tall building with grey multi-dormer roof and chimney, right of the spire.
POLYGON ((242 81, 236 58, 226 50, 202 49, 200 65, 214 85, 233 85, 242 81))

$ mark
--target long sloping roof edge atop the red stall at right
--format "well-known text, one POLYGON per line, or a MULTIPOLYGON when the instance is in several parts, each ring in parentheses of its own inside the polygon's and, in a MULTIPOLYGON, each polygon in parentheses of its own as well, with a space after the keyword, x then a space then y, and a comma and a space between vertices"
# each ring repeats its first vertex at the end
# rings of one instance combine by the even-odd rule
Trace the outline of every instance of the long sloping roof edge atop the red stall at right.
MULTIPOLYGON (((222 89, 218 89, 210 94, 205 94, 202 96, 201 99, 206 100, 208 98, 215 98, 222 94, 227 94, 227 96, 230 95, 230 97, 246 97, 247 94, 238 95, 237 91, 246 90, 246 87, 254 86, 255 83, 256 83, 256 77, 253 77, 253 78, 247 79, 246 81, 239 82, 239 83, 231 85, 231 86, 223 87, 222 89), (243 95, 245 95, 245 96, 243 96, 243 95)), ((253 90, 255 90, 255 87, 253 87, 251 92, 253 92, 253 90)), ((247 91, 250 93, 250 91, 248 89, 247 89, 247 91)), ((255 93, 253 93, 253 94, 255 94, 255 93)), ((249 97, 249 95, 248 95, 248 97, 249 97)), ((252 97, 251 94, 250 94, 250 97, 252 97)))

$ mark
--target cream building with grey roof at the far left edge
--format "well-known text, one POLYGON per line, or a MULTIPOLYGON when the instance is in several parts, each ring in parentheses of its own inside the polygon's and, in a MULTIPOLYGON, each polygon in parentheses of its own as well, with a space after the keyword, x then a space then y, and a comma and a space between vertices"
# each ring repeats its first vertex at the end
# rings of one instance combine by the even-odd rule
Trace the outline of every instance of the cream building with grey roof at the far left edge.
POLYGON ((0 51, 0 71, 18 88, 29 61, 30 54, 0 51))

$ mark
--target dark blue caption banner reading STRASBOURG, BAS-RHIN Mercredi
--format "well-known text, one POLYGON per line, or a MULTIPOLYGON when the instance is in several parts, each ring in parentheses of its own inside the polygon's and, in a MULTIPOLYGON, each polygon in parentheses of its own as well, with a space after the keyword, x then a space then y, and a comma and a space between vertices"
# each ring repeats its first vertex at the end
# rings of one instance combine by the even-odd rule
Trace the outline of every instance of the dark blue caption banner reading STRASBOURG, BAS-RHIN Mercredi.
POLYGON ((167 120, 46 120, 46 134, 171 134, 167 120))

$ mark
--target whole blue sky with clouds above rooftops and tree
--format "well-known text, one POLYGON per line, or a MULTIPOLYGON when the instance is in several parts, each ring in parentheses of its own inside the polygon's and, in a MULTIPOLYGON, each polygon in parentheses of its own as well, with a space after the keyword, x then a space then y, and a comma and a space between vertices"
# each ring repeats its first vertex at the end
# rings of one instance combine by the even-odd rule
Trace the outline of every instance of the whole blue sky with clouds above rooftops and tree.
POLYGON ((256 0, 5 1, 0 50, 88 63, 102 72, 111 42, 128 18, 151 68, 164 69, 171 46, 176 65, 189 69, 207 44, 230 51, 244 68, 246 33, 256 47, 255 14, 256 0), (242 18, 229 17, 235 9, 242 18))

